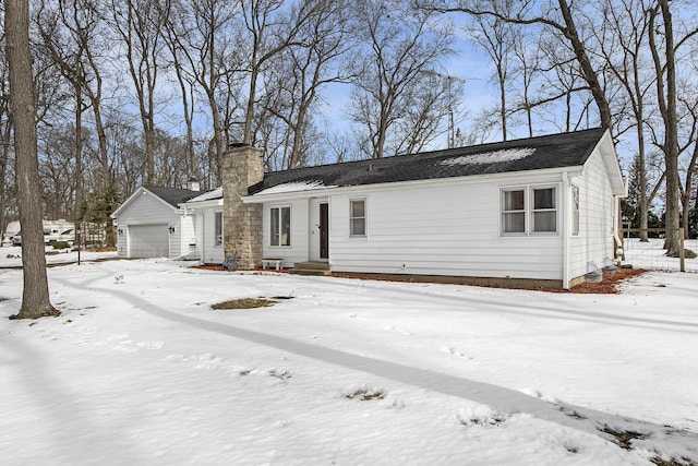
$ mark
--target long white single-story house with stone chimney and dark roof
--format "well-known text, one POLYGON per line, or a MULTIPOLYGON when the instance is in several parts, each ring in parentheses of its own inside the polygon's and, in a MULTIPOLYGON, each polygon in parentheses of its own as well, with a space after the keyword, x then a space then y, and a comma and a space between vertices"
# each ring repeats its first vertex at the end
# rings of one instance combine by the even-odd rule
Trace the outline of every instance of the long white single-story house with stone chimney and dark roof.
POLYGON ((614 260, 626 193, 602 129, 268 174, 241 146, 224 188, 242 268, 563 288, 614 260))

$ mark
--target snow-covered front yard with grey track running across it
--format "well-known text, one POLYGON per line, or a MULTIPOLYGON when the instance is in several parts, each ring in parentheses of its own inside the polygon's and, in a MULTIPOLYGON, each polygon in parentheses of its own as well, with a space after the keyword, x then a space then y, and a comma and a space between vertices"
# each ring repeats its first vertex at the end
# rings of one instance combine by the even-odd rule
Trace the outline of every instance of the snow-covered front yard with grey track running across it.
POLYGON ((7 319, 0 270, 0 464, 698 464, 698 274, 571 295, 186 265, 51 267, 62 315, 37 321, 7 319))

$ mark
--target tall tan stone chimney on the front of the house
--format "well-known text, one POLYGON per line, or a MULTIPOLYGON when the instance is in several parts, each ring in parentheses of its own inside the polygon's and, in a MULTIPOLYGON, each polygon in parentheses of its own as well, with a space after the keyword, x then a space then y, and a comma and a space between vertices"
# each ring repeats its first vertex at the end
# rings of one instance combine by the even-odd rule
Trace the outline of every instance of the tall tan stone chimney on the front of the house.
POLYGON ((243 204, 242 196, 264 179, 262 150, 249 145, 228 150, 221 171, 226 258, 236 256, 238 268, 254 268, 262 261, 262 204, 243 204))

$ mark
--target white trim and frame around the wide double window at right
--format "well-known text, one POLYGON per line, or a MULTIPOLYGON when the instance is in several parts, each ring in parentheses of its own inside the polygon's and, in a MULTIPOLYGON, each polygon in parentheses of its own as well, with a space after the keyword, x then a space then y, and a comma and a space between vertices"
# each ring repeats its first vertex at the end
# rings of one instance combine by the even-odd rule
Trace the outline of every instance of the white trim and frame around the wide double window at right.
POLYGON ((541 184, 513 184, 500 187, 500 236, 501 237, 553 237, 561 235, 559 224, 559 183, 541 183, 541 184), (552 189, 554 208, 534 210, 534 191, 552 189), (504 214, 520 213, 520 210, 505 211, 504 196, 505 192, 524 191, 524 231, 504 231, 504 214), (537 212, 555 212, 555 230, 554 231, 534 231, 533 215, 537 212))

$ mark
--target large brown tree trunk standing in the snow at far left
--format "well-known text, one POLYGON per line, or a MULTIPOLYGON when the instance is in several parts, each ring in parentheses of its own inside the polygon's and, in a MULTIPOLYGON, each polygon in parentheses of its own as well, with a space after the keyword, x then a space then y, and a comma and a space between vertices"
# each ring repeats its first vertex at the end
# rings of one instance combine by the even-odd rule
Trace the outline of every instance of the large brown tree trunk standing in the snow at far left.
POLYGON ((49 301, 39 169, 36 148, 36 108, 29 52, 28 0, 5 0, 4 31, 10 68, 10 100, 14 121, 17 203, 22 224, 24 291, 20 313, 11 319, 59 315, 49 301))

